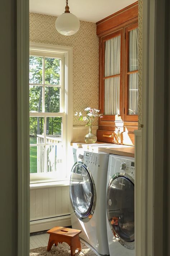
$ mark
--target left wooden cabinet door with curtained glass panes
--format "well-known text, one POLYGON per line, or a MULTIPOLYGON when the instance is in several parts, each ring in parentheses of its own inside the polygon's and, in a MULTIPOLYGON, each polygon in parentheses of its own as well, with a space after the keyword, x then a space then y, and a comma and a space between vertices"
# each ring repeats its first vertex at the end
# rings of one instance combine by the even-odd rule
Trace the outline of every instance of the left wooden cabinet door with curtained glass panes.
POLYGON ((104 120, 115 120, 122 114, 122 30, 102 39, 101 90, 103 104, 101 112, 104 120))

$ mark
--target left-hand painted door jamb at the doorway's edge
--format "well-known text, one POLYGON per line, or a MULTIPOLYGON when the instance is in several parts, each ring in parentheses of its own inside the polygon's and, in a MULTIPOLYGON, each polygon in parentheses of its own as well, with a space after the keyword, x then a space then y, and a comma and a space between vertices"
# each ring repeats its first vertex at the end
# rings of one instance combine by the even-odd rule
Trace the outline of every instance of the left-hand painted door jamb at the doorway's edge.
POLYGON ((17 0, 18 256, 29 256, 29 1, 17 0))

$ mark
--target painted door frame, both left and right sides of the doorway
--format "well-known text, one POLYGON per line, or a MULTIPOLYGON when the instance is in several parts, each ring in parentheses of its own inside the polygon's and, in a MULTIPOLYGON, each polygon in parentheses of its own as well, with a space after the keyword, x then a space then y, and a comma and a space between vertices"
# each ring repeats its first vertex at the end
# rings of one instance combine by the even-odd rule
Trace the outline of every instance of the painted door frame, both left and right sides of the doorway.
MULTIPOLYGON (((166 0, 143 1, 143 103, 142 166, 140 188, 145 203, 144 241, 136 256, 157 256, 163 252, 164 175, 164 81, 166 0), (162 65, 161 65, 162 64, 162 65), (160 86, 163 84, 163 86, 160 86), (160 129, 161 133, 160 133, 160 129), (145 182, 146 181, 146 182, 145 182), (159 190, 157 189, 159 185, 159 190), (154 215, 154 218, 153 218, 154 215), (157 225, 159 217, 160 224, 157 225), (147 228, 146 228, 147 227, 147 228), (162 239, 160 239, 162 238, 162 239), (159 242, 158 242, 159 241, 159 242), (160 253, 161 252, 161 253, 160 253)), ((17 0, 17 101, 18 101, 18 256, 29 255, 29 1, 17 0), (23 86, 24 85, 24 86, 23 86)))

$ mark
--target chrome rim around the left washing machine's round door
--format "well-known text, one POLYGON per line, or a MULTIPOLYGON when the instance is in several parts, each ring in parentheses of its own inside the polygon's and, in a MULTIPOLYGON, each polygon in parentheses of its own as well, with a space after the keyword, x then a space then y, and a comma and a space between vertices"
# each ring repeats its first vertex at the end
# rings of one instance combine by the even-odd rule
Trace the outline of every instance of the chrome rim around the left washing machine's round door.
MULTIPOLYGON (((72 169, 71 169, 71 172, 72 170, 77 166, 77 165, 82 165, 87 171, 88 171, 88 174, 90 176, 90 179, 91 179, 91 183, 92 183, 92 186, 93 186, 93 203, 92 203, 92 206, 91 206, 91 209, 89 209, 89 212, 88 214, 84 215, 84 216, 80 216, 76 211, 75 211, 75 207, 74 205, 72 204, 72 197, 71 197, 71 192, 70 192, 70 202, 71 202, 71 207, 72 209, 74 210, 74 213, 75 215, 77 216, 77 218, 83 222, 88 222, 94 215, 94 211, 95 211, 95 207, 96 207, 96 187, 95 187, 95 183, 94 183, 94 179, 93 179, 93 175, 91 174, 91 171, 89 170, 88 166, 85 165, 84 162, 76 162, 73 166, 72 166, 72 169)), ((70 188, 71 188, 71 177, 70 177, 70 188)))

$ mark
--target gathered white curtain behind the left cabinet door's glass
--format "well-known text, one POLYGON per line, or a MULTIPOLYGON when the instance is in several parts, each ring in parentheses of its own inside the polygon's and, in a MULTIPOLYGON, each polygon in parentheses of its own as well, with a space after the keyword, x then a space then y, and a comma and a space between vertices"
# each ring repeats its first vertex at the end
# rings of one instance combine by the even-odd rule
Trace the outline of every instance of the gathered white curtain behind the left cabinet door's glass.
MULTIPOLYGON (((105 77, 120 74, 121 36, 105 42, 105 77)), ((120 77, 105 79, 104 114, 119 114, 120 77)))

